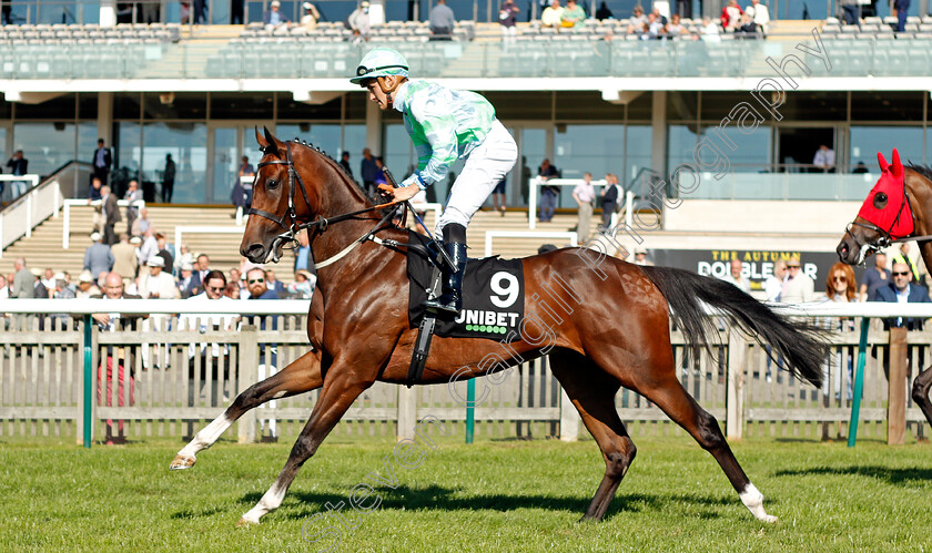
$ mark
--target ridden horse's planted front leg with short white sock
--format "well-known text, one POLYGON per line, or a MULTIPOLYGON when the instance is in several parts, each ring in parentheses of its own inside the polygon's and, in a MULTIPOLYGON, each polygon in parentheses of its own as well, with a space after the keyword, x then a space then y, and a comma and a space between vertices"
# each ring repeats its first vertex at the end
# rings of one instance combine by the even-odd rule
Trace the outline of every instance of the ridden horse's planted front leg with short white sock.
POLYGON ((259 503, 240 519, 237 525, 257 524, 262 515, 278 509, 301 465, 317 451, 321 442, 340 422, 353 401, 373 382, 374 379, 361 377, 351 367, 333 365, 311 418, 292 448, 285 468, 259 503))

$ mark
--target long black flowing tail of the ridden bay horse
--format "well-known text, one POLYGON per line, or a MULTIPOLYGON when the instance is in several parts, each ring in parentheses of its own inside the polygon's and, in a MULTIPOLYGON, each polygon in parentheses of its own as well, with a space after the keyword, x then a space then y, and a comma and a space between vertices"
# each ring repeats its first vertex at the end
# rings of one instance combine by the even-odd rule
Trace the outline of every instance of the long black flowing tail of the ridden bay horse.
POLYGON ((782 357, 796 377, 809 380, 817 388, 822 386, 822 363, 828 346, 811 324, 777 315, 738 287, 718 278, 672 267, 641 269, 667 298, 670 318, 690 344, 710 347, 706 336, 715 331, 716 326, 706 314, 703 304, 707 304, 753 336, 758 344, 770 346, 773 351, 768 355, 782 357))

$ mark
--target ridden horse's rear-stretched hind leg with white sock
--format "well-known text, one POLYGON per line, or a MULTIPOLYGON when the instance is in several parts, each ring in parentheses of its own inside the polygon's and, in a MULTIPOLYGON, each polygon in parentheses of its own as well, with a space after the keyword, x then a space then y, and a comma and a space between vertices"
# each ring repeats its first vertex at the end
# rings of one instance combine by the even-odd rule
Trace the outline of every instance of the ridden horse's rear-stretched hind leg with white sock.
POLYGON ((652 357, 647 362, 646 371, 631 375, 635 380, 631 388, 657 403, 657 407, 662 409, 673 422, 689 432, 702 449, 716 458, 751 514, 763 522, 777 522, 776 516, 767 514, 763 510, 763 494, 751 483, 744 470, 738 464, 716 418, 699 407, 677 380, 672 351, 652 357))

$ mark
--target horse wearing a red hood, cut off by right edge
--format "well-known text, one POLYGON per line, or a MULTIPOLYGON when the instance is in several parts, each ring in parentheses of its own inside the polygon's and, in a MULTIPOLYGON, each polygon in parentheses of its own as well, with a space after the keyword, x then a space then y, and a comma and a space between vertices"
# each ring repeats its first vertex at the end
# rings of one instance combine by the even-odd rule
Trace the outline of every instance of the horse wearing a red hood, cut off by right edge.
MULTIPOLYGON (((878 153, 881 176, 868 194, 854 221, 838 245, 838 258, 861 265, 868 257, 894 242, 915 239, 925 266, 932 269, 932 168, 908 164, 893 150, 893 163, 878 153)), ((932 424, 932 366, 913 380, 912 398, 932 424)))

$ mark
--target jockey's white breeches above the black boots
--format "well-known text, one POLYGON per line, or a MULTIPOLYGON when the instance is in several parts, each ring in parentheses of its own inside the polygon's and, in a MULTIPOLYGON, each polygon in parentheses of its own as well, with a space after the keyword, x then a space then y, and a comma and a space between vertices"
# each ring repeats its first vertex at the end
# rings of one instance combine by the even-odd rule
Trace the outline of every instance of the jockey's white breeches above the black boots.
POLYGON ((505 175, 515 166, 518 146, 507 129, 496 119, 486 139, 466 156, 466 164, 449 191, 444 214, 437 219, 436 233, 443 235, 450 223, 469 225, 469 219, 479 211, 505 175))

